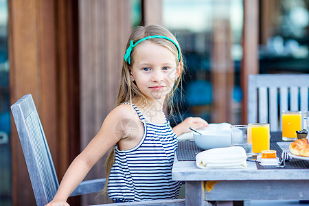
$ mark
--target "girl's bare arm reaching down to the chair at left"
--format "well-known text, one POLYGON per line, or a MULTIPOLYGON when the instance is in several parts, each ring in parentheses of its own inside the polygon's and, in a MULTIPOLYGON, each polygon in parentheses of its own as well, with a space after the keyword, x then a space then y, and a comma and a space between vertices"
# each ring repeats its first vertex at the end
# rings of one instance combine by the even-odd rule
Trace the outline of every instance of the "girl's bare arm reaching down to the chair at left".
MULTIPOLYGON (((73 160, 59 185, 58 191, 48 206, 69 205, 66 203, 69 195, 82 182, 89 170, 98 160, 121 139, 115 133, 115 125, 125 118, 123 107, 117 107, 104 120, 100 131, 90 141, 87 147, 73 160)), ((118 128, 119 130, 119 128, 118 128)), ((118 131, 119 132, 119 131, 118 131)))

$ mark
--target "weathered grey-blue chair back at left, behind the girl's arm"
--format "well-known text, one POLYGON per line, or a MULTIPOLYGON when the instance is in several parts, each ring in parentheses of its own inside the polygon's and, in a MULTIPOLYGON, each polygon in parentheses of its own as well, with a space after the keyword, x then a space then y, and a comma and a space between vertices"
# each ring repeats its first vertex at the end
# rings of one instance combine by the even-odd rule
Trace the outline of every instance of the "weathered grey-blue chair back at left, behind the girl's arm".
POLYGON ((30 175, 36 205, 52 201, 59 187, 43 126, 31 94, 11 106, 30 175))

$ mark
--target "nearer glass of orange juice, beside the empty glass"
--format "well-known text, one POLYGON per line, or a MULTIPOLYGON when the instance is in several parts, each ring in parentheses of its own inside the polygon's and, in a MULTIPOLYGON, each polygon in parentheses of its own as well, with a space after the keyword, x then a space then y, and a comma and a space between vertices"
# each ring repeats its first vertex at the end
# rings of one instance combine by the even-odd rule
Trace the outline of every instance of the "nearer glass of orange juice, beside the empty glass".
POLYGON ((270 130, 268 123, 253 123, 251 126, 252 152, 253 155, 260 155, 262 150, 269 150, 270 130))

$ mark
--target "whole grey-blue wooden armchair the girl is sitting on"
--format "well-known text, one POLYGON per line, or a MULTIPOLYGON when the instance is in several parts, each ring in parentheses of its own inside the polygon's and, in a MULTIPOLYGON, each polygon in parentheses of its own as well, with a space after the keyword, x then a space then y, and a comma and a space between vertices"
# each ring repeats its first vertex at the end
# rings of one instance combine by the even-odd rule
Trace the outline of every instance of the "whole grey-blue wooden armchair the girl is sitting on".
MULTIPOLYGON (((11 106, 21 147, 27 164, 36 205, 45 205, 52 201, 58 187, 58 178, 54 162, 49 152, 41 120, 31 94, 24 95, 11 106)), ((105 185, 105 179, 82 181, 71 196, 99 192, 105 185)), ((157 200, 108 205, 185 205, 185 200, 157 200)))

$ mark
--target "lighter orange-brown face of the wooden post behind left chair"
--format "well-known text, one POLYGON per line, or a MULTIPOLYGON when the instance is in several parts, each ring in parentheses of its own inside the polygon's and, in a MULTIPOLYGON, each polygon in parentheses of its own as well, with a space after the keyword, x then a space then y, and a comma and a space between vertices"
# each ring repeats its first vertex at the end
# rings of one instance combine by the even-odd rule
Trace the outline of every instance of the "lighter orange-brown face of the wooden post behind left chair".
MULTIPOLYGON (((62 154, 56 149, 59 130, 54 1, 12 0, 8 8, 11 104, 32 93, 52 157, 59 165, 62 154)), ((13 205, 35 205, 14 122, 11 148, 13 205)))

